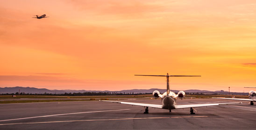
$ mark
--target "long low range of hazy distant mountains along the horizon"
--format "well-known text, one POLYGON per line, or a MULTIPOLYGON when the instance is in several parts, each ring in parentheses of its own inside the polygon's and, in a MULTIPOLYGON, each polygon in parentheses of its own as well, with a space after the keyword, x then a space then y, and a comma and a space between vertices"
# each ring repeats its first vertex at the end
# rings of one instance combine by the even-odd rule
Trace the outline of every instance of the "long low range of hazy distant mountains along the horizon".
MULTIPOLYGON (((34 87, 5 87, 0 88, 0 94, 2 93, 16 93, 16 92, 24 92, 24 93, 37 93, 37 94, 43 94, 43 93, 52 93, 52 94, 63 94, 63 93, 78 93, 78 92, 117 92, 117 93, 152 93, 153 91, 157 90, 160 93, 164 93, 166 89, 132 89, 132 90, 122 90, 122 91, 92 91, 92 90, 49 90, 49 89, 38 89, 34 87)), ((178 90, 171 90, 173 92, 178 92, 178 90)), ((228 91, 206 91, 206 90, 185 90, 185 92, 190 93, 228 93, 228 91)))

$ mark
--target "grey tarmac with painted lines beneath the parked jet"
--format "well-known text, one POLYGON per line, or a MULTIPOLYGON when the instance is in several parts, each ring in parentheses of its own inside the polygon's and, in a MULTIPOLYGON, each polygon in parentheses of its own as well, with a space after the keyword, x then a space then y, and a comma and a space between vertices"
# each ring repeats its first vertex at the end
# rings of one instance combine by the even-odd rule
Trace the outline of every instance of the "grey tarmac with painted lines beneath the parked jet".
MULTIPOLYGON (((161 104, 161 100, 121 100, 161 104)), ((221 99, 183 99, 177 104, 227 103, 221 99)), ((169 110, 100 101, 0 104, 0 130, 120 130, 120 129, 254 129, 256 105, 220 105, 169 110)))

